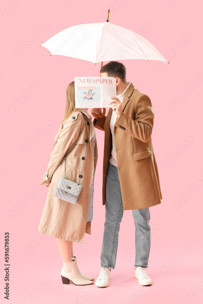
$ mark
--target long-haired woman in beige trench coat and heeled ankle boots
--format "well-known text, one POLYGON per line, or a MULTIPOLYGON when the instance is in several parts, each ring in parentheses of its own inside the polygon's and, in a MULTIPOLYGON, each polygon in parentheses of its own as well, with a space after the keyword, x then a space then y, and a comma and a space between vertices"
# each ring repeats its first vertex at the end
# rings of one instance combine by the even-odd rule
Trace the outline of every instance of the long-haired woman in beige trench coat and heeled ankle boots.
POLYGON ((49 189, 38 231, 58 240, 63 259, 61 270, 63 284, 69 284, 70 281, 75 285, 93 284, 93 278, 86 277, 79 271, 76 257, 73 255, 73 242, 84 243, 85 233, 91 234, 93 183, 97 162, 97 144, 92 116, 87 109, 75 109, 74 81, 66 89, 65 115, 54 140, 56 142, 50 162, 41 180, 41 183, 49 189), (77 183, 80 179, 82 185, 75 205, 53 196, 59 178, 64 177, 65 157, 65 178, 77 183))

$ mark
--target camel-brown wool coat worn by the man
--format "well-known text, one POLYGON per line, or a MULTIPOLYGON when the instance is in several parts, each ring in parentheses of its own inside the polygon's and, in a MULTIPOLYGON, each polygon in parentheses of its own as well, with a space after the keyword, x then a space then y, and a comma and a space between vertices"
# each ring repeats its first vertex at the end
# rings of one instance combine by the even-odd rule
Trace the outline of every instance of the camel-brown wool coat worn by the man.
MULTIPOLYGON (((112 150, 110 118, 93 120, 105 132, 103 158, 103 205, 112 150)), ((131 83, 122 101, 122 112, 114 123, 114 142, 124 210, 142 209, 161 203, 162 193, 152 145, 154 112, 150 98, 131 83)))

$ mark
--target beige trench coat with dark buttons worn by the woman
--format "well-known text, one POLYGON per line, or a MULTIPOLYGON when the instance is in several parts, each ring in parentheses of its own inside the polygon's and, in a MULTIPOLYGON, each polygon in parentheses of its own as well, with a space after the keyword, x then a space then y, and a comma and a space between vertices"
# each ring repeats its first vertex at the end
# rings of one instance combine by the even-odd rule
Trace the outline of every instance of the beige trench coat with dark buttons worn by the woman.
MULTIPOLYGON (((87 222, 90 190, 93 180, 93 170, 96 169, 97 144, 94 143, 94 126, 92 116, 85 109, 74 112, 61 125, 54 140, 57 143, 51 152, 50 162, 44 177, 48 187, 47 199, 41 216, 38 231, 52 237, 73 242, 84 242, 85 232, 91 234, 91 221, 87 222), (80 185, 82 190, 76 204, 71 204, 53 196, 59 178, 64 177, 66 154, 66 178, 79 182, 86 150, 86 128, 88 146, 82 171, 80 185), (95 146, 94 146, 95 145, 95 146)), ((96 141, 96 140, 95 140, 96 141)))

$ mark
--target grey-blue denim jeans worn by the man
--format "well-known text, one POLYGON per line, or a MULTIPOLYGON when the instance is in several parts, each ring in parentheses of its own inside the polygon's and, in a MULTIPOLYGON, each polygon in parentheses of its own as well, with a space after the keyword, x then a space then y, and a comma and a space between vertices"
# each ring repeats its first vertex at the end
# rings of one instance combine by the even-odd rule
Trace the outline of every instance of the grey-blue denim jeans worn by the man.
MULTIPOLYGON (((118 248, 118 233, 123 217, 121 186, 116 166, 109 163, 106 185, 105 223, 101 250, 101 267, 115 268, 118 248)), ((133 209, 135 223, 135 267, 147 268, 151 245, 149 208, 133 209)))

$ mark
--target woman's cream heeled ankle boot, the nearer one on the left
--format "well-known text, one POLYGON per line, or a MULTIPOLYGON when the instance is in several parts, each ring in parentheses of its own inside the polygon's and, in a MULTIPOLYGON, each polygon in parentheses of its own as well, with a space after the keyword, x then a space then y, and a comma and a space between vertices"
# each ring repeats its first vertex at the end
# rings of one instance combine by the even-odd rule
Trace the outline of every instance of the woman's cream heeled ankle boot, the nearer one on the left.
POLYGON ((75 265, 75 260, 72 262, 63 262, 63 268, 61 270, 61 279, 63 284, 69 284, 70 281, 75 285, 90 285, 93 281, 82 278, 75 265))

